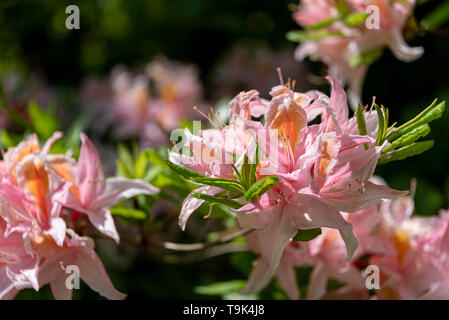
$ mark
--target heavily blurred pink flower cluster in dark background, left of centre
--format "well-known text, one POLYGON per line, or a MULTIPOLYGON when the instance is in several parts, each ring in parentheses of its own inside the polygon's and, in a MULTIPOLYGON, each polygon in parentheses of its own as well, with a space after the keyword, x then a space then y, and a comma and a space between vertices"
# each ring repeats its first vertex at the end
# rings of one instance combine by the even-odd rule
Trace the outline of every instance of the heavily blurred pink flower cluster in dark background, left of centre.
POLYGON ((118 137, 137 137, 143 145, 157 147, 167 144, 167 133, 191 117, 201 91, 193 66, 159 58, 146 67, 146 73, 117 67, 108 80, 89 79, 82 89, 82 103, 94 107, 92 126, 97 131, 113 124, 118 137))

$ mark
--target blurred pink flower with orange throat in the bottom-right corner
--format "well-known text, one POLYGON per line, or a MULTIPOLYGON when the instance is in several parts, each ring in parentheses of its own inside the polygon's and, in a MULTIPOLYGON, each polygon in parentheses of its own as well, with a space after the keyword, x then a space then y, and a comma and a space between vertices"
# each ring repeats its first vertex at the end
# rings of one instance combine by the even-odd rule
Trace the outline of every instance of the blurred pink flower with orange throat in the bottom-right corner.
POLYGON ((380 270, 378 299, 447 299, 449 216, 411 217, 410 197, 351 215, 369 263, 380 270))

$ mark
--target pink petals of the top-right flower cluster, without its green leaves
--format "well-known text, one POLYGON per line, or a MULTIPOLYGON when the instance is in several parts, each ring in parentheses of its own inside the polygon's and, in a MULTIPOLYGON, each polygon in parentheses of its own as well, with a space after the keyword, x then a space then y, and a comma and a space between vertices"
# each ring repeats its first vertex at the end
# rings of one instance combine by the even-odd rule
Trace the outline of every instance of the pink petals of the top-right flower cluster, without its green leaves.
MULTIPOLYGON (((331 1, 303 0, 293 19, 303 27, 335 18, 336 21, 324 27, 332 34, 318 40, 306 40, 296 50, 297 60, 311 57, 329 66, 329 74, 348 84, 351 106, 355 109, 360 102, 363 82, 367 72, 366 65, 354 66, 353 57, 374 49, 389 47, 401 61, 411 62, 423 54, 421 47, 410 48, 402 36, 402 29, 415 5, 415 0, 351 0, 346 1, 350 14, 365 13, 375 6, 379 10, 379 28, 368 28, 365 23, 359 26, 346 26, 339 18, 336 4, 331 1), (335 33, 339 33, 338 35, 335 33)), ((369 18, 368 18, 369 19, 369 18)))

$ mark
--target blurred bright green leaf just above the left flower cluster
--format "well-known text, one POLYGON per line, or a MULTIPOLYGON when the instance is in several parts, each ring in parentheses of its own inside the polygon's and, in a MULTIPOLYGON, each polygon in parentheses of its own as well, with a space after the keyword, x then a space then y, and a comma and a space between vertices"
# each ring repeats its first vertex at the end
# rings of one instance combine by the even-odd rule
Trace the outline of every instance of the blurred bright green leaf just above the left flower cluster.
POLYGON ((28 103, 28 114, 36 134, 43 140, 51 137, 59 129, 58 118, 50 112, 42 110, 36 102, 28 103))

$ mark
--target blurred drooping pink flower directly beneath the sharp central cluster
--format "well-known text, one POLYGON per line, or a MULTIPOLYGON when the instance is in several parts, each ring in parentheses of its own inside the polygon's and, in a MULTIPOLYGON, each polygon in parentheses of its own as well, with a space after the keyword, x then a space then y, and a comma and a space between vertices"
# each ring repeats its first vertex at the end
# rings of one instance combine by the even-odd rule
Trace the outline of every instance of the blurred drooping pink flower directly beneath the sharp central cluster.
MULTIPOLYGON (((250 234, 246 239, 253 252, 261 253, 254 235, 250 234)), ((334 229, 323 229, 321 236, 309 242, 303 243, 292 240, 284 249, 274 276, 290 299, 299 298, 294 268, 302 266, 313 267, 307 290, 307 299, 323 298, 326 294, 329 279, 337 280, 345 285, 346 291, 363 292, 365 280, 362 271, 352 263, 353 260, 346 261, 345 256, 345 244, 338 232, 334 229)), ((257 259, 247 286, 241 293, 253 294, 262 290, 271 280, 271 278, 266 277, 269 272, 265 261, 262 258, 257 259)), ((342 293, 339 292, 339 294, 342 293)), ((359 295, 359 297, 362 296, 359 295)))

